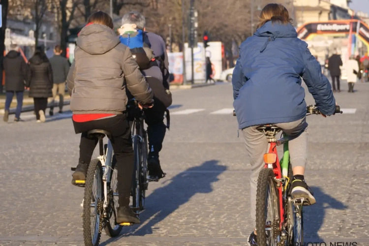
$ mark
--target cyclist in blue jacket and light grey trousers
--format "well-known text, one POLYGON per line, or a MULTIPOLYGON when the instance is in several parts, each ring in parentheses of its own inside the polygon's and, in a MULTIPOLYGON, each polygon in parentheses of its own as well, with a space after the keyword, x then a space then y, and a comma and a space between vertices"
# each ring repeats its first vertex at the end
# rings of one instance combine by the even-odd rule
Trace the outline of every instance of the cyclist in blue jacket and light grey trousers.
MULTIPOLYGON (((293 168, 292 197, 315 198, 304 178, 307 161, 307 122, 304 79, 308 91, 323 116, 335 113, 336 101, 319 62, 307 43, 297 37, 287 9, 276 3, 266 5, 254 35, 240 46, 240 57, 233 71, 233 97, 239 123, 251 163, 250 212, 255 226, 258 174, 264 168, 263 154, 268 141, 257 127, 274 124, 289 136, 293 168)), ((249 236, 250 246, 257 245, 256 231, 249 236)))

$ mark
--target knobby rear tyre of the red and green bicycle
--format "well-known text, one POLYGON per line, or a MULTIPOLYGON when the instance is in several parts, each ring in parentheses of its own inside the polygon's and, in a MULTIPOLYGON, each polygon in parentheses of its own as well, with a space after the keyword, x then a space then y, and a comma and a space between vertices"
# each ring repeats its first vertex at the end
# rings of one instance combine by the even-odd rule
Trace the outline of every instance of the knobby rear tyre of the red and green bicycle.
POLYGON ((274 172, 270 168, 264 168, 260 171, 257 181, 256 191, 256 232, 258 245, 277 246, 277 234, 279 233, 279 196, 276 183, 274 182, 274 172), (268 192, 267 192, 268 190, 268 192), (270 201, 272 205, 272 218, 269 221, 266 217, 269 211, 267 199, 270 194, 270 201), (268 196, 268 197, 267 197, 268 196), (267 221, 268 220, 268 221, 267 221), (271 230, 267 231, 266 228, 271 230))

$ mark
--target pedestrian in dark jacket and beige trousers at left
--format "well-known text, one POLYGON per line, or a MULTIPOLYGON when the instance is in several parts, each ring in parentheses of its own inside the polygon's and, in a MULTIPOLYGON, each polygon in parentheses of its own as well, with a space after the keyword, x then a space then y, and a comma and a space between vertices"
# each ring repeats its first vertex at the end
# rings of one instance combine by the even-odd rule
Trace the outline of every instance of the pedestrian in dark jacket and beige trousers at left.
POLYGON ((59 113, 63 112, 64 105, 64 92, 65 92, 65 81, 66 76, 69 72, 69 62, 65 57, 62 57, 62 49, 60 45, 55 46, 54 48, 54 56, 50 58, 51 68, 53 70, 53 97, 51 100, 51 106, 49 114, 50 116, 54 115, 54 103, 55 97, 59 94, 59 113))

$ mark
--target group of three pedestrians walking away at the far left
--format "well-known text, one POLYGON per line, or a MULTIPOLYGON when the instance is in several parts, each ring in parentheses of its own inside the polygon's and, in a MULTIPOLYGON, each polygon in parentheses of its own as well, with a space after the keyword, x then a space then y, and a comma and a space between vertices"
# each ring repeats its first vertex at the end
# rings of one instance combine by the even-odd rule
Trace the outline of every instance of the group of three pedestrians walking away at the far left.
POLYGON ((37 123, 46 121, 46 108, 50 105, 50 116, 54 115, 55 98, 59 94, 59 113, 62 113, 65 82, 69 71, 69 62, 62 57, 62 49, 59 45, 54 48, 54 56, 48 59, 43 47, 37 47, 34 55, 26 63, 16 44, 10 46, 9 53, 1 61, 2 70, 5 73, 5 112, 3 120, 8 122, 9 109, 14 94, 17 98, 15 122, 20 118, 23 106, 25 90, 29 91, 29 97, 33 98, 34 114, 37 123), (49 101, 48 101, 49 100, 49 101))

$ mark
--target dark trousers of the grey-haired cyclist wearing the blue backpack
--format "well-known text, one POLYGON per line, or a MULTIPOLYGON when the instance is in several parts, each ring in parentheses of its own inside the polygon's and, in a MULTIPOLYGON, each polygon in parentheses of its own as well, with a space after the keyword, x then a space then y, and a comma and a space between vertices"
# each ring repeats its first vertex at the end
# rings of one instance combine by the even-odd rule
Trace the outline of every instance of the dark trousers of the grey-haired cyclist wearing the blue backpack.
POLYGON ((159 102, 154 102, 154 107, 145 109, 145 122, 148 125, 147 135, 149 140, 149 156, 159 157, 163 147, 166 132, 164 114, 166 108, 159 102))

